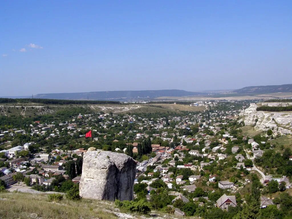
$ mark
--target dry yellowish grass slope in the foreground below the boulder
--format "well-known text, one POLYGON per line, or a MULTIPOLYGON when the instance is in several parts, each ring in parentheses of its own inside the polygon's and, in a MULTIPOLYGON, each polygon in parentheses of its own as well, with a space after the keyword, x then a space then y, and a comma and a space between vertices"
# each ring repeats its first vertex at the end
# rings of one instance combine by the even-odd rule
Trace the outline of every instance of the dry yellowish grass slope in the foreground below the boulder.
POLYGON ((118 218, 107 212, 112 210, 109 202, 82 200, 79 202, 63 199, 55 203, 46 195, 28 193, 0 193, 0 218, 118 218))

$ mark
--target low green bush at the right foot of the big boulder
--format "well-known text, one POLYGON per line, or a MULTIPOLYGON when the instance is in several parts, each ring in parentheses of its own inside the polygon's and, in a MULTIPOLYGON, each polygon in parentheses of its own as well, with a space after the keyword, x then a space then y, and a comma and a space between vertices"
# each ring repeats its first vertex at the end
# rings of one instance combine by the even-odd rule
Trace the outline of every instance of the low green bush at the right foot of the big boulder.
POLYGON ((141 214, 149 214, 151 211, 151 205, 148 202, 140 199, 139 201, 120 201, 116 200, 114 202, 119 208, 123 208, 127 211, 137 212, 141 214))

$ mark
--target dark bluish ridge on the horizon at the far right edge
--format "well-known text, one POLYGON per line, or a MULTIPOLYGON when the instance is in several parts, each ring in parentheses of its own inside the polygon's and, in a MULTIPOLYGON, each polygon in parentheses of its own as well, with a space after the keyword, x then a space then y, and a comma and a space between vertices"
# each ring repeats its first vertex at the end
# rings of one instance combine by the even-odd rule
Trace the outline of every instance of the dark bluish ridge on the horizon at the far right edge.
POLYGON ((234 90, 233 92, 238 94, 265 94, 278 92, 292 92, 292 84, 249 86, 234 90))

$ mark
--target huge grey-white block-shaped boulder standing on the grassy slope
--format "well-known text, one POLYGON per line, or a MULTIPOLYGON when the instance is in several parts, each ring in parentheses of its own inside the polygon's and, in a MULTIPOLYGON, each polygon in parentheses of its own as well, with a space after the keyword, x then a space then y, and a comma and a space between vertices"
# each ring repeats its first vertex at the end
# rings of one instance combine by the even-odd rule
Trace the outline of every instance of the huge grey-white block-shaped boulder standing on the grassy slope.
POLYGON ((136 161, 126 154, 87 151, 79 184, 81 197, 100 200, 132 200, 136 161))

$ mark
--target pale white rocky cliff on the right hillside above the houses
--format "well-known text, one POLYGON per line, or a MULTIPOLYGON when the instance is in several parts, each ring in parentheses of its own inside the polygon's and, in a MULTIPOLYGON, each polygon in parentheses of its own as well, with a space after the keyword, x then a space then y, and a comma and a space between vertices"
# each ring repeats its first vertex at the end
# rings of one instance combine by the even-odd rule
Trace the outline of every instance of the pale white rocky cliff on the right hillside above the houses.
MULTIPOLYGON (((291 103, 262 103, 268 106, 284 106, 291 103)), ((240 116, 244 116, 244 124, 252 125, 255 129, 267 131, 272 129, 273 134, 292 134, 292 113, 290 112, 265 112, 257 111, 257 104, 251 105, 245 109, 240 116)))

